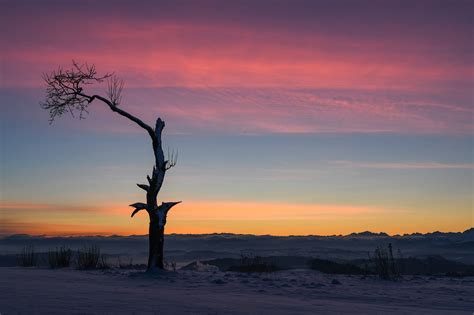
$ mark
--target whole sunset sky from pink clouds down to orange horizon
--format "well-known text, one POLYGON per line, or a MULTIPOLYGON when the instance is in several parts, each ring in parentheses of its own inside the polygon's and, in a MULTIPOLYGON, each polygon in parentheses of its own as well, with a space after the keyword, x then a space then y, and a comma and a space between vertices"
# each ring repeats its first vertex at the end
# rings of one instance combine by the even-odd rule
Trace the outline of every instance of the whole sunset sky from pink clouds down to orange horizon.
MULTIPOLYGON (((113 72, 179 152, 167 233, 474 226, 472 1, 0 0, 0 235, 146 234, 148 135, 42 74, 113 72)), ((87 87, 104 94, 105 86, 87 87)))

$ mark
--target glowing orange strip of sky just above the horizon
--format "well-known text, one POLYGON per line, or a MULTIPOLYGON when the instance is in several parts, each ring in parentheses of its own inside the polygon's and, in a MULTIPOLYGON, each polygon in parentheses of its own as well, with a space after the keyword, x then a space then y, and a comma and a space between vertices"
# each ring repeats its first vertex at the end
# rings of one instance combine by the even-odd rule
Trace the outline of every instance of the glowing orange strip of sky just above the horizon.
MULTIPOLYGON (((144 211, 130 218, 123 205, 67 206, 47 204, 0 205, 3 228, 0 235, 46 236, 144 235, 148 218, 144 211), (11 213, 15 211, 15 215, 11 213), (47 213, 47 215, 45 215, 47 213)), ((235 233, 255 235, 346 235, 352 232, 388 234, 462 232, 472 222, 434 213, 429 220, 403 209, 380 209, 351 205, 284 204, 235 201, 188 201, 173 208, 166 233, 235 233), (406 222, 410 215, 411 222, 406 222), (370 226, 368 229, 367 227, 370 226)))

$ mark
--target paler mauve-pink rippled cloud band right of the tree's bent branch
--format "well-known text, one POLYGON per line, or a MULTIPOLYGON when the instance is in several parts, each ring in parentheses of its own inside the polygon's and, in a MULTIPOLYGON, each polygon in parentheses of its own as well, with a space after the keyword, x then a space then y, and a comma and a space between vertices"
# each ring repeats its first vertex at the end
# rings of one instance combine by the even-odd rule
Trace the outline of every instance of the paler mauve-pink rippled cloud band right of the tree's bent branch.
POLYGON ((174 132, 470 133, 466 100, 367 90, 130 89, 126 101, 144 117, 163 115, 174 132), (174 128, 174 127, 171 127, 174 128))

